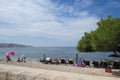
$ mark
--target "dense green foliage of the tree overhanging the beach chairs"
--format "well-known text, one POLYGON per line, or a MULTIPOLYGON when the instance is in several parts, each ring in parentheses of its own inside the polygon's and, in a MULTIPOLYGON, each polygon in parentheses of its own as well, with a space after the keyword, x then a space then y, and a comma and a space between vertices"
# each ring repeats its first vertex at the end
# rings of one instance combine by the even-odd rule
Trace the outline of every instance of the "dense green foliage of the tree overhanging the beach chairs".
POLYGON ((97 22, 98 28, 95 31, 84 34, 77 44, 80 52, 91 51, 113 51, 117 50, 120 44, 120 18, 106 19, 97 22))

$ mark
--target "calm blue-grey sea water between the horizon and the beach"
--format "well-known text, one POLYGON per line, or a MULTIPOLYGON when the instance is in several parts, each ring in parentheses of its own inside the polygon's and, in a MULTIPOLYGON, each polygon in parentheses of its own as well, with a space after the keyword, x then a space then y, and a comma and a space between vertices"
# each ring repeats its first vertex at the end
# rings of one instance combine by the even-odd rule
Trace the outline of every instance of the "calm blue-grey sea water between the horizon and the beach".
POLYGON ((25 55, 29 60, 37 60, 43 54, 51 58, 75 58, 78 53, 80 58, 87 60, 120 60, 120 58, 108 57, 113 52, 92 52, 83 53, 78 52, 74 47, 25 47, 25 48, 0 48, 0 58, 5 58, 7 51, 15 51, 15 55, 11 56, 12 59, 16 59, 21 55, 25 55))

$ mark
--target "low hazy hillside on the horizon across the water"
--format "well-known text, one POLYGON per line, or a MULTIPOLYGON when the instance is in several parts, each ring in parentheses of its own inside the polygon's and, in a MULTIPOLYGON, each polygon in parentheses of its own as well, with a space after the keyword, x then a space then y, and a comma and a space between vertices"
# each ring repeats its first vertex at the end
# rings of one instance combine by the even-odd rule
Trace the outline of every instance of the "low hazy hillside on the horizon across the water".
POLYGON ((22 44, 14 44, 14 43, 0 43, 1 48, 7 48, 7 47, 32 47, 28 45, 22 45, 22 44))

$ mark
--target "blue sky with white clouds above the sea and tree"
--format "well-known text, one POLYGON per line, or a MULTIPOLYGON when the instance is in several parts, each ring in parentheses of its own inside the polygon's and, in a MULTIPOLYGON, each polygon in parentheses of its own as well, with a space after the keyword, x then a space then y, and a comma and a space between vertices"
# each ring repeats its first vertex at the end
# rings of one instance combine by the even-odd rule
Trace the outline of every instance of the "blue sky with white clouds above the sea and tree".
POLYGON ((75 47, 108 15, 120 17, 120 0, 0 0, 0 43, 75 47))

